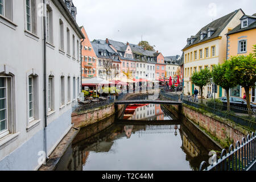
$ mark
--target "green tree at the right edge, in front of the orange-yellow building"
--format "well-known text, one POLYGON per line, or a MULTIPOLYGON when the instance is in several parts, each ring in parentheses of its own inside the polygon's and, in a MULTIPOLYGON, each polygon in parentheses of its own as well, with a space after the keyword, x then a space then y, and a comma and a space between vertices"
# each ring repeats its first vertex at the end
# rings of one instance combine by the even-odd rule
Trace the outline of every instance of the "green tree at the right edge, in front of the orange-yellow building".
POLYGON ((230 71, 237 80, 237 84, 245 88, 247 109, 251 110, 250 88, 255 88, 256 82, 256 57, 253 53, 247 56, 232 56, 230 58, 230 71))

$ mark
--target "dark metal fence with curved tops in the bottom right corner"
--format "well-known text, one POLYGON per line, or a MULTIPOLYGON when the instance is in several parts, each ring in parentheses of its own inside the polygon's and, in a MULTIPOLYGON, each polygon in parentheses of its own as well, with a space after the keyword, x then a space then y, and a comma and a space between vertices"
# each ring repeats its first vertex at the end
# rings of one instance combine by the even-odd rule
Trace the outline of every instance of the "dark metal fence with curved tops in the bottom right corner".
POLYGON ((247 135, 247 139, 242 138, 242 143, 237 141, 236 147, 233 144, 229 147, 229 152, 222 150, 221 156, 218 159, 214 154, 209 161, 203 161, 200 164, 199 171, 248 171, 255 170, 256 162, 256 137, 252 133, 247 135))

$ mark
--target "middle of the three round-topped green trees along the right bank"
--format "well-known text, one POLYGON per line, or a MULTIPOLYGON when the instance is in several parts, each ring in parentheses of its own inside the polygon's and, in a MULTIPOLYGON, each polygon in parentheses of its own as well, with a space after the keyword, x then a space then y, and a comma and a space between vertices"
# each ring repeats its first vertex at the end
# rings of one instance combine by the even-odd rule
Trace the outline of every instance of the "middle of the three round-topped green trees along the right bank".
POLYGON ((228 111, 230 111, 229 89, 237 86, 234 72, 230 69, 230 61, 214 66, 212 71, 213 82, 226 90, 228 111))

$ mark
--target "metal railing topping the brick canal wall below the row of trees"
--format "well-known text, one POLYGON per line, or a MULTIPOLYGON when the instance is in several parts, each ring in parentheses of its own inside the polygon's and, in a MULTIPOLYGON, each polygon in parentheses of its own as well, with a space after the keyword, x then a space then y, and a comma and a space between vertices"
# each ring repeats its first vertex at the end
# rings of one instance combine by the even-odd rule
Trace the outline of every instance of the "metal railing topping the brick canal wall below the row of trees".
POLYGON ((246 109, 230 106, 230 111, 228 111, 228 106, 226 105, 214 105, 211 101, 205 100, 203 104, 200 104, 200 100, 199 102, 193 102, 184 99, 183 103, 213 113, 219 117, 230 119, 238 125, 247 127, 247 129, 256 130, 256 114, 250 113, 246 109))

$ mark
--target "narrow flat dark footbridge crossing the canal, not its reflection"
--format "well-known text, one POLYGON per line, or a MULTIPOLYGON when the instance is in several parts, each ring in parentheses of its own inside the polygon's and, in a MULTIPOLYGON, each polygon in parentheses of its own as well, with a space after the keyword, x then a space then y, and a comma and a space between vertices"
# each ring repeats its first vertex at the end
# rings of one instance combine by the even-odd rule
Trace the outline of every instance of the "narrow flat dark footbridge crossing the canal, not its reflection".
POLYGON ((115 105, 120 104, 163 104, 163 105, 181 105, 180 101, 160 101, 160 100, 124 100, 124 101, 115 101, 115 105))

